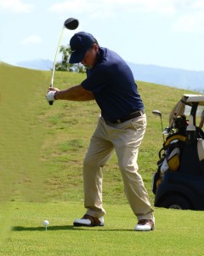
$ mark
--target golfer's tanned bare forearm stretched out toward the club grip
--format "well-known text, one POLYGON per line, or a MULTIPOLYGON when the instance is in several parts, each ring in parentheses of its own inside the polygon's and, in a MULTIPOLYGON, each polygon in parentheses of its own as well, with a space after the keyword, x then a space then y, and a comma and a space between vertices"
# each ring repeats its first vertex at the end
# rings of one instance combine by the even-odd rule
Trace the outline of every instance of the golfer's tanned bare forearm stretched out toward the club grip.
MULTIPOLYGON (((50 90, 54 90, 54 88, 50 88, 50 90)), ((85 102, 94 100, 94 94, 90 90, 83 89, 82 85, 79 84, 67 90, 57 91, 54 95, 54 99, 85 102)))

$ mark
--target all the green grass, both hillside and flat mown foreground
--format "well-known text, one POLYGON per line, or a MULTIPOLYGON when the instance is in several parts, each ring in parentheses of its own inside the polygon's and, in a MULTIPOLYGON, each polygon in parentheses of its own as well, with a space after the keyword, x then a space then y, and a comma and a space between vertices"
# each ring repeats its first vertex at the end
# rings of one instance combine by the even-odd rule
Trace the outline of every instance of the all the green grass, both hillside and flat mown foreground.
MULTIPOLYGON (((94 131, 95 102, 45 100, 51 73, 0 64, 1 255, 202 255, 202 212, 156 209, 156 230, 133 232, 136 219, 123 193, 116 155, 104 168, 105 228, 73 228, 84 213, 82 160, 94 131), (48 231, 42 228, 48 218, 48 231)), ((79 84, 84 74, 55 73, 54 86, 79 84)), ((148 127, 139 172, 153 204, 152 173, 163 125, 187 90, 138 82, 148 127)))

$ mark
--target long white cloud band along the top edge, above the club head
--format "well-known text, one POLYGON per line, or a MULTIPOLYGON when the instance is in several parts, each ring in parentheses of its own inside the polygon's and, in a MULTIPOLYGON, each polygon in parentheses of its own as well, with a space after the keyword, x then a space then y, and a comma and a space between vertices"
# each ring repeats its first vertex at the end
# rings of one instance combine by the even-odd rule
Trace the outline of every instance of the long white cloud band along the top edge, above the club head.
POLYGON ((203 0, 64 0, 54 3, 49 11, 55 13, 75 13, 94 15, 94 12, 116 13, 120 9, 123 12, 152 13, 155 15, 173 15, 178 12, 192 12, 204 9, 203 0))

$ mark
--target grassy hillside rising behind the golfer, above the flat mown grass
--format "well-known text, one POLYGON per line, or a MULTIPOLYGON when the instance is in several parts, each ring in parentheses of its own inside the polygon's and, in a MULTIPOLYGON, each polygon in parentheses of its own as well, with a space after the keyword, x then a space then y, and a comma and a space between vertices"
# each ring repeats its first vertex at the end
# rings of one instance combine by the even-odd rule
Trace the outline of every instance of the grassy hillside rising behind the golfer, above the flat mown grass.
MULTIPOLYGON (((82 201, 82 161, 94 131, 99 108, 92 102, 45 99, 51 73, 0 65, 0 171, 2 198, 8 201, 82 201)), ((80 84, 84 74, 55 73, 54 86, 80 84)), ((139 172, 151 193, 161 148, 159 109, 167 126, 175 102, 188 90, 137 82, 148 127, 139 152, 139 172)), ((104 168, 104 201, 126 203, 116 154, 104 168)))

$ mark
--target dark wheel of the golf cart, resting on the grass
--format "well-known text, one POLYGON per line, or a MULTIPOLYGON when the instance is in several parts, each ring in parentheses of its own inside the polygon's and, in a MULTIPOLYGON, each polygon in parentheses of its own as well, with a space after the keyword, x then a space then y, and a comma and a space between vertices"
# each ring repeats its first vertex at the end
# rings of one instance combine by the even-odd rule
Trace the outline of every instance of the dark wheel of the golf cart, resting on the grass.
POLYGON ((190 202, 182 195, 167 195, 161 201, 161 207, 170 208, 170 209, 178 209, 178 210, 187 210, 192 209, 190 206, 190 202))

